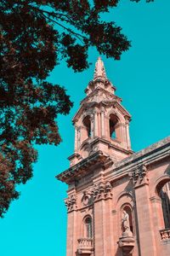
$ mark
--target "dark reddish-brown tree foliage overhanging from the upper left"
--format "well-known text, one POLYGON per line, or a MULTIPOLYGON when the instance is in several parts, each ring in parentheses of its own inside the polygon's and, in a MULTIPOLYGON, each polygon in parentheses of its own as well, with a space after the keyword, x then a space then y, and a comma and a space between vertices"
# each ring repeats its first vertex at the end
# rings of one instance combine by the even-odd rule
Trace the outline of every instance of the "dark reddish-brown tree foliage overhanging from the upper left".
POLYGON ((130 47, 120 26, 100 19, 118 2, 1 0, 0 216, 18 198, 16 185, 32 177, 34 144, 61 141, 56 119, 72 102, 65 88, 46 81, 54 66, 65 59, 80 72, 90 46, 116 60, 130 47))

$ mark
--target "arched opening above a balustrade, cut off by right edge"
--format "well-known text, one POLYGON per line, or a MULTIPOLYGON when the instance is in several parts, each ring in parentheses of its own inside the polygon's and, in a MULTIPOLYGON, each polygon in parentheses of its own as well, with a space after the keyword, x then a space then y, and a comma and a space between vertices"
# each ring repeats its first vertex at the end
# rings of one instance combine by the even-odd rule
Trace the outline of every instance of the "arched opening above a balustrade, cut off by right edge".
POLYGON ((165 228, 170 228, 170 182, 165 183, 158 191, 161 197, 161 208, 165 228))

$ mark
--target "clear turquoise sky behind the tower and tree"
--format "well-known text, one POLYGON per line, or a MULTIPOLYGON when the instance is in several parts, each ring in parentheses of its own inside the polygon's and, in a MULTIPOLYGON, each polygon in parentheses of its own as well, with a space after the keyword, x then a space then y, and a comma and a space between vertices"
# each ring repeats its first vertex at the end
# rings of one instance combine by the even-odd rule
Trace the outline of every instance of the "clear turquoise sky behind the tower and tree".
MULTIPOLYGON (((105 59, 107 77, 116 86, 133 120, 130 135, 134 151, 156 143, 169 135, 170 127, 170 1, 131 3, 122 0, 118 8, 105 15, 116 20, 132 40, 132 48, 121 61, 105 59)), ((39 158, 34 177, 20 186, 20 199, 14 201, 0 219, 2 256, 65 256, 66 208, 63 199, 67 186, 54 176, 69 167, 73 153, 74 129, 71 118, 85 96, 84 89, 93 79, 98 53, 89 51, 93 63, 83 73, 73 73, 65 61, 56 67, 49 80, 64 85, 75 102, 68 116, 59 116, 63 143, 58 147, 37 147, 39 158)))

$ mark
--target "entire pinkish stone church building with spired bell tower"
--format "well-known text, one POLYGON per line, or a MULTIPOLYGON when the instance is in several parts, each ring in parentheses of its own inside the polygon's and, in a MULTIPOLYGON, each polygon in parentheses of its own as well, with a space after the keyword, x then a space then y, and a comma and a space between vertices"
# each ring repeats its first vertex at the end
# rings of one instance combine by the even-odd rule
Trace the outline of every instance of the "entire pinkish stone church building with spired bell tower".
POLYGON ((170 255, 170 137, 131 149, 130 113, 103 61, 73 118, 66 256, 170 255))

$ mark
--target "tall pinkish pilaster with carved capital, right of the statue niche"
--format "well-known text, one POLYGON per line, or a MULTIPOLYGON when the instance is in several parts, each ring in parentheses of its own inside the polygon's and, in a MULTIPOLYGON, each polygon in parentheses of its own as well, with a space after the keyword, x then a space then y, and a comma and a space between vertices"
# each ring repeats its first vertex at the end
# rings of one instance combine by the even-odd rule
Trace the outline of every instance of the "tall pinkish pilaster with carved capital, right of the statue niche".
POLYGON ((145 166, 139 166, 131 173, 134 183, 136 209, 139 225, 140 255, 158 256, 153 226, 153 212, 150 205, 149 178, 145 166))

